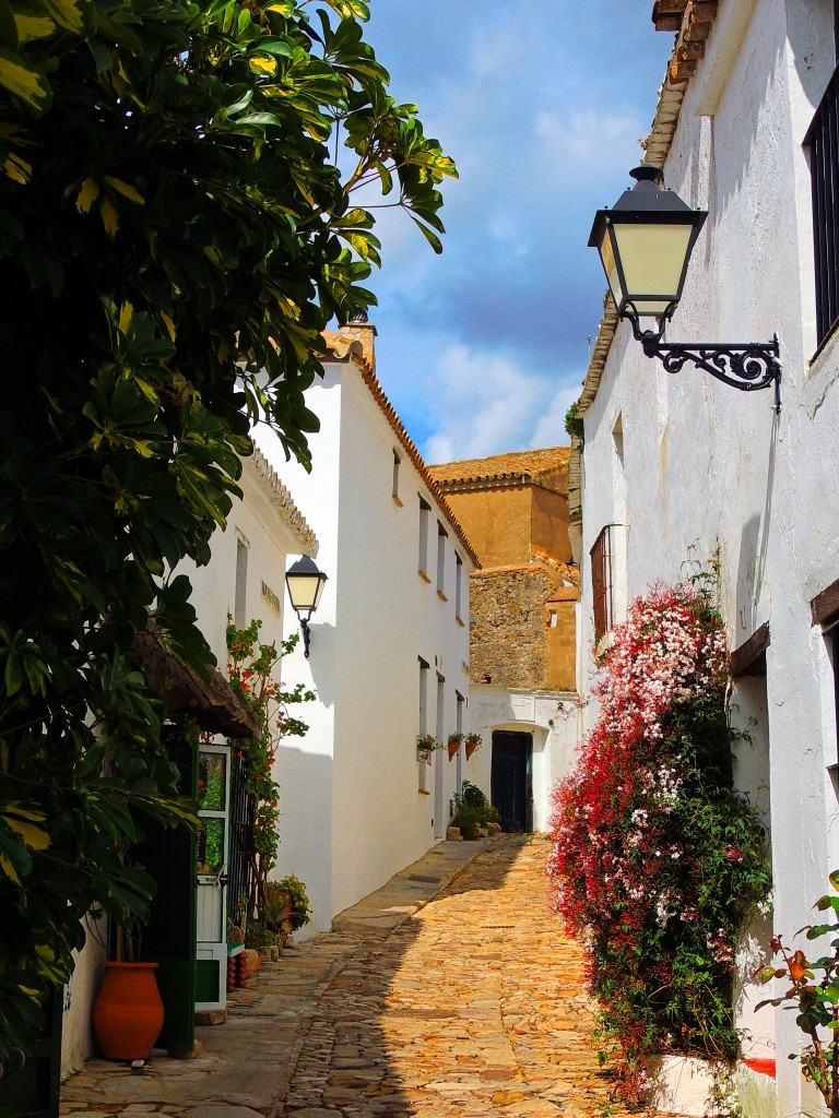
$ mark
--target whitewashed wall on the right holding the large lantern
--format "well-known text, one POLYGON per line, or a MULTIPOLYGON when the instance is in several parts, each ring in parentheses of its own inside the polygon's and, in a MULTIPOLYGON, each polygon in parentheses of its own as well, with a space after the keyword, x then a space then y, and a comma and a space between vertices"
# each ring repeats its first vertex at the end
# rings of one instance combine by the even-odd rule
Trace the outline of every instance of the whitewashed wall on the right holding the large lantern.
MULTIPOLYGON (((691 556, 718 548, 732 647, 764 622, 767 676, 735 689, 758 720, 738 770, 755 788, 771 768, 775 929, 791 935, 839 865, 832 673, 810 600, 839 578, 839 353, 816 349, 810 177, 802 142, 833 67, 828 3, 727 0, 688 86, 666 183, 709 217, 671 341, 781 339, 783 409, 772 392, 739 392, 687 367, 666 373, 619 328, 585 415, 583 647, 593 641, 588 551, 620 513, 625 482, 631 595, 678 580, 691 556), (737 22, 739 21, 739 27, 737 22), (699 115, 698 111, 705 114, 699 115), (619 440, 622 432, 622 463, 619 440), (762 690, 764 688, 764 690, 762 690)), ((588 662, 591 683, 592 665, 588 662)), ((588 721, 596 712, 588 711, 588 721)), ((793 1014, 743 1023, 771 1044, 779 1114, 796 1112, 801 1034, 793 1014)))

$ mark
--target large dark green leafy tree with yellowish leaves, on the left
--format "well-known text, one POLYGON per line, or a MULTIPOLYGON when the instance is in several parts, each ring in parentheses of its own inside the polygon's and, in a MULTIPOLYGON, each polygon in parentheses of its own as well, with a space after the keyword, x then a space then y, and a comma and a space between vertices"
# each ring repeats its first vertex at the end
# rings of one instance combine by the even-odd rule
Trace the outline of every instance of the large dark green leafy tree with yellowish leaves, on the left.
POLYGON ((114 854, 142 813, 188 817, 132 641, 152 612, 213 660, 173 571, 208 560, 249 425, 309 461, 320 331, 373 302, 353 190, 440 248, 454 167, 388 95, 366 17, 0 0, 0 1060, 79 916, 145 911, 114 854))

